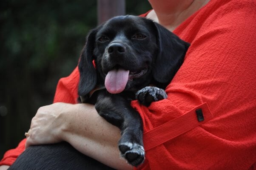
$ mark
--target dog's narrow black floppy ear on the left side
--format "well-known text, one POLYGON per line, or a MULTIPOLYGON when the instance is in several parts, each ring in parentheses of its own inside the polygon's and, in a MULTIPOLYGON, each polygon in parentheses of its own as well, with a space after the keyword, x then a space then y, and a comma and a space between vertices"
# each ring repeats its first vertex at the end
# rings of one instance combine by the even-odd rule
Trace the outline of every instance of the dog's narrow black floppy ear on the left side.
POLYGON ((97 29, 93 29, 89 32, 86 39, 86 44, 82 49, 82 54, 80 55, 80 61, 78 64, 78 69, 80 72, 80 81, 78 87, 79 96, 85 96, 88 94, 97 83, 96 69, 92 63, 96 33, 97 29))

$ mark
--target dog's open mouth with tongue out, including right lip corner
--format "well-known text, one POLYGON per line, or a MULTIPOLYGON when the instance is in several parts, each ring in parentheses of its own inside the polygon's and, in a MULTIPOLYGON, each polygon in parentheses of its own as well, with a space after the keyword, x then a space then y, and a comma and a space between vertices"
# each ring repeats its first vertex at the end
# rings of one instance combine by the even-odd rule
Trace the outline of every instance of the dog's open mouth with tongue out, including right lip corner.
POLYGON ((144 68, 140 71, 130 72, 123 68, 114 68, 111 71, 108 71, 108 74, 105 77, 105 87, 109 93, 117 94, 121 93, 129 81, 142 77, 148 68, 144 68))

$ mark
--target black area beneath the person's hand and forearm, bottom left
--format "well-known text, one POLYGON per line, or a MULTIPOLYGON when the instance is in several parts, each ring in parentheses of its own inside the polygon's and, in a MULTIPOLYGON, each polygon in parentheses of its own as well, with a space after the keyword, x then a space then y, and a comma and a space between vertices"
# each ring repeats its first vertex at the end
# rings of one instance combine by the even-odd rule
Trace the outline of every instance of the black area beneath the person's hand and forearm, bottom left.
POLYGON ((67 142, 28 147, 8 170, 114 170, 67 142))

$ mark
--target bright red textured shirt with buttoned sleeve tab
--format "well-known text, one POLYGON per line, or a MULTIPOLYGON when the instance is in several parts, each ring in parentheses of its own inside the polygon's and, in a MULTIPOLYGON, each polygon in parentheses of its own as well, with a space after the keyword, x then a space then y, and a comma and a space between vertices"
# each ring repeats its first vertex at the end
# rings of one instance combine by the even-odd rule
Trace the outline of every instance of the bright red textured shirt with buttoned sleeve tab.
MULTIPOLYGON (((146 159, 137 169, 256 169, 255 9, 255 0, 211 0, 174 30, 191 46, 168 99, 131 103, 144 127, 146 159)), ((76 103, 78 81, 77 68, 60 79, 54 102, 76 103)), ((11 164, 24 143, 0 164, 11 164)))

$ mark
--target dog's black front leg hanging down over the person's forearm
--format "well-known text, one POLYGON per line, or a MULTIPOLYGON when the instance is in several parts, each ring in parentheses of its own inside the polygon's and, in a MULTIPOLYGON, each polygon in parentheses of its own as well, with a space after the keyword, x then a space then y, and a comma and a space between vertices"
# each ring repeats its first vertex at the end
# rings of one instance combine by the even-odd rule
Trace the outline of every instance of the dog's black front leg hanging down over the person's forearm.
POLYGON ((120 95, 101 93, 95 108, 100 116, 121 130, 120 155, 133 166, 141 164, 145 159, 142 121, 130 101, 120 95))

